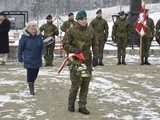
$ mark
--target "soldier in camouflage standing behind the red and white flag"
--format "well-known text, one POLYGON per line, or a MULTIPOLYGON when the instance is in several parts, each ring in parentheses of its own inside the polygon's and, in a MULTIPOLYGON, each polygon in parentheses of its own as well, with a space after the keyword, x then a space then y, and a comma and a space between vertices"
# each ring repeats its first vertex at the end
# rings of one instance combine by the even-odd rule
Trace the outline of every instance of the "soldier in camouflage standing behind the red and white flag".
POLYGON ((148 15, 148 9, 146 10, 146 15, 147 15, 147 32, 146 34, 142 37, 142 54, 141 54, 141 65, 150 65, 148 62, 148 57, 149 57, 149 49, 151 46, 151 42, 154 37, 154 22, 151 18, 149 18, 148 15))

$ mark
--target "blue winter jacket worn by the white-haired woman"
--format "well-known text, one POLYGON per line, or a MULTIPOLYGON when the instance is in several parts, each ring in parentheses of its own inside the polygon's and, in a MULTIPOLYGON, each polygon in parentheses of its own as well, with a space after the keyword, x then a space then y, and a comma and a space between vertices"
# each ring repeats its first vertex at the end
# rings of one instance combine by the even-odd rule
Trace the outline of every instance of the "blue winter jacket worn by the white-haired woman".
POLYGON ((19 41, 18 61, 24 62, 25 68, 39 68, 42 66, 42 50, 42 36, 32 36, 26 31, 19 41))

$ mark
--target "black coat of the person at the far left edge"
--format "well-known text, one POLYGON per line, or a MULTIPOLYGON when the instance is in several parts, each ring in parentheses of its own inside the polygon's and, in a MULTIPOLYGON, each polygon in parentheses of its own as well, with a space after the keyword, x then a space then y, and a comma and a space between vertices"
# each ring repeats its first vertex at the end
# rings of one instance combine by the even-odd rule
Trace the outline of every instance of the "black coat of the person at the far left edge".
POLYGON ((5 19, 0 24, 0 53, 9 53, 9 36, 10 21, 5 19))

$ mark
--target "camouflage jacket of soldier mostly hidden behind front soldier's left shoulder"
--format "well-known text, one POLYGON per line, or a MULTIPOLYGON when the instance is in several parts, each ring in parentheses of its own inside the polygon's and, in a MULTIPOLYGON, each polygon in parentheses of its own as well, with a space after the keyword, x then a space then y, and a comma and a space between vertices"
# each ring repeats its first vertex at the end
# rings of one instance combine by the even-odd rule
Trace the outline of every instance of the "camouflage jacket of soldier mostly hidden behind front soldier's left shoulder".
POLYGON ((61 26, 61 30, 63 32, 67 32, 69 28, 73 27, 76 24, 75 21, 71 21, 71 20, 67 20, 65 21, 62 26, 61 26))

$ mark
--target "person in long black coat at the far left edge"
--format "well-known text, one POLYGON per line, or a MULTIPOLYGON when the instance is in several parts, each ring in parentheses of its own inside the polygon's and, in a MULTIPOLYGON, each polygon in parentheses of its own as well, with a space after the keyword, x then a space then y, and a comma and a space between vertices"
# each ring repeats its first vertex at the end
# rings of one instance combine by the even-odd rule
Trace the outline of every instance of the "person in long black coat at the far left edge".
POLYGON ((0 13, 0 54, 2 60, 0 64, 5 64, 7 54, 9 53, 9 36, 10 21, 7 19, 3 12, 0 13))

